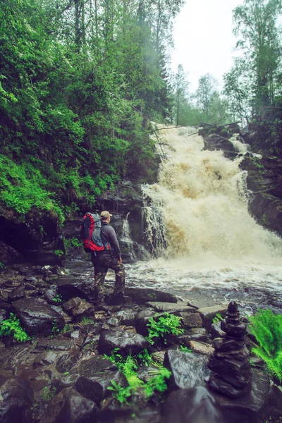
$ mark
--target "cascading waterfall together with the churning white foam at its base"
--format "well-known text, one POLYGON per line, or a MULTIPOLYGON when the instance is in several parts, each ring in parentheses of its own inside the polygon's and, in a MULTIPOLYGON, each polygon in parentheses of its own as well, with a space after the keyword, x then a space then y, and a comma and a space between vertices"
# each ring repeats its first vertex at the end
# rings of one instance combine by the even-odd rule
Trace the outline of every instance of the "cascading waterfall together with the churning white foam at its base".
POLYGON ((160 257, 127 265, 127 281, 171 292, 243 285, 281 293, 282 240, 248 213, 241 159, 203 151, 202 137, 195 132, 158 131, 167 144, 162 147, 166 159, 159 182, 145 186, 144 192, 150 199, 147 235, 154 235, 160 257))

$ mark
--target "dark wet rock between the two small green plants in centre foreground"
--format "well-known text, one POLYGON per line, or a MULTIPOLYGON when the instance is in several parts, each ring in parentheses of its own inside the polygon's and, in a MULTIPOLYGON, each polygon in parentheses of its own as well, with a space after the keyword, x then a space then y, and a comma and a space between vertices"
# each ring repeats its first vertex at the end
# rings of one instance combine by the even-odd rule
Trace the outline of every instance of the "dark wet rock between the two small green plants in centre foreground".
POLYGON ((126 357, 130 353, 132 355, 141 353, 149 345, 139 333, 121 330, 104 331, 99 338, 99 354, 111 355, 114 348, 119 348, 119 353, 126 357))

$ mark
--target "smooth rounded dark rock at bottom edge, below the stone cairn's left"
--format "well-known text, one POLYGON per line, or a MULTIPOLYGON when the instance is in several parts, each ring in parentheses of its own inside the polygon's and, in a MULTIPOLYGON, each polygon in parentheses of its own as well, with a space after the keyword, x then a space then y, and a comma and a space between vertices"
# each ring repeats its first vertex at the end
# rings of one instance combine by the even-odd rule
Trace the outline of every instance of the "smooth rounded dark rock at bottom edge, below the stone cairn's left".
MULTIPOLYGON (((226 423, 219 403, 203 386, 174 391, 162 407, 163 423, 226 423)), ((228 420, 229 421, 229 420, 228 420)))

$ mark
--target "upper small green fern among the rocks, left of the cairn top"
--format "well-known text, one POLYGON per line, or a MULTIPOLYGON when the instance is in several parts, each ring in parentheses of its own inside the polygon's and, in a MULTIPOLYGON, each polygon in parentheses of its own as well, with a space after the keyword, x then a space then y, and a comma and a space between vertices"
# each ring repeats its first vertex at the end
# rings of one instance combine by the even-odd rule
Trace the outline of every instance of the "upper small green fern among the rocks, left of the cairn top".
POLYGON ((164 312, 163 316, 155 314, 154 317, 149 317, 147 326, 149 331, 147 340, 150 343, 154 343, 155 338, 164 338, 165 341, 166 334, 168 333, 172 333, 173 335, 184 333, 184 329, 181 328, 181 317, 167 312, 164 312))

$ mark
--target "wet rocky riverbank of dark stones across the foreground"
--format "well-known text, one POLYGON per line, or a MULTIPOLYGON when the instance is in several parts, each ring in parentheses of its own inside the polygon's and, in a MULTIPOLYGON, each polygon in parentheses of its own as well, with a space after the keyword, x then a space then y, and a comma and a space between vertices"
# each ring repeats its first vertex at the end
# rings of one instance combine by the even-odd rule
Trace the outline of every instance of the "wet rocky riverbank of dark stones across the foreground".
MULTIPOLYGON (((252 370, 251 393, 238 400, 207 389, 213 338, 223 335, 213 319, 219 313, 226 315, 226 292, 214 304, 208 292, 194 291, 193 300, 183 302, 158 290, 127 288, 127 303, 114 305, 108 281, 108 305, 98 312, 92 305, 93 280, 83 278, 79 266, 73 262, 70 274, 59 266, 14 265, 1 271, 1 320, 16 314, 30 336, 25 343, 4 336, 0 343, 2 422, 159 423, 168 422, 169 416, 169 421, 194 423, 203 407, 209 416, 214 415, 209 423, 264 423, 270 415, 272 421, 279 421, 281 391, 259 369, 252 370), (147 324, 156 313, 179 316, 183 333, 166 336, 165 343, 149 344, 147 324), (121 406, 108 388, 112 381, 126 388, 128 381, 104 356, 111 356, 116 348, 122 357, 137 356, 146 349, 164 365, 171 372, 165 393, 154 391, 147 399, 139 390, 121 406), (193 410, 190 417, 185 412, 188 405, 193 410)), ((244 305, 254 308, 259 298, 261 307, 281 304, 267 291, 229 293, 230 299, 234 297, 241 309, 244 305)), ((253 338, 247 338, 249 347, 252 342, 253 338)), ((138 364, 137 374, 146 384, 156 367, 138 364)))

